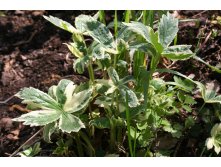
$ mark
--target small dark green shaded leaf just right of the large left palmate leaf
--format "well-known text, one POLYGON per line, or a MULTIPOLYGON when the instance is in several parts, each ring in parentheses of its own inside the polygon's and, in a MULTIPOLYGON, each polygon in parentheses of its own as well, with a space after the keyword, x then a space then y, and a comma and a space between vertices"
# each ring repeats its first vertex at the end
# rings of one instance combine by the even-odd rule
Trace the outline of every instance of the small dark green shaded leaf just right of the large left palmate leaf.
POLYGON ((99 117, 90 121, 90 125, 93 125, 98 129, 110 129, 110 120, 106 117, 99 117))

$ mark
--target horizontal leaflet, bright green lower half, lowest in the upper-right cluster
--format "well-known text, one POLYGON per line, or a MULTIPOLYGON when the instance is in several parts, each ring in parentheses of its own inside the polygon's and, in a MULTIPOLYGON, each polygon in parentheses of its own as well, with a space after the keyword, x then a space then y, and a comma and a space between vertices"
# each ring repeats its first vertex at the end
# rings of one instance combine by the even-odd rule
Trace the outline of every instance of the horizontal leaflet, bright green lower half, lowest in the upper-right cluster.
POLYGON ((190 50, 191 45, 175 45, 163 50, 162 55, 172 60, 186 60, 194 54, 190 50))

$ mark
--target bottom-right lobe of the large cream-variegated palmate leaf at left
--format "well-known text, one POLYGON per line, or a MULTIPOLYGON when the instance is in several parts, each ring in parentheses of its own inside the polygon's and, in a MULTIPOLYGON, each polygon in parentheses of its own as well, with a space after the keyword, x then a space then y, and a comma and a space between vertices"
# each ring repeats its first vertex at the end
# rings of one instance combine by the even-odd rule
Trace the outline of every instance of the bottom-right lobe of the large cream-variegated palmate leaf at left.
POLYGON ((63 132, 78 132, 81 128, 85 128, 81 120, 69 113, 62 113, 59 120, 59 129, 63 132))

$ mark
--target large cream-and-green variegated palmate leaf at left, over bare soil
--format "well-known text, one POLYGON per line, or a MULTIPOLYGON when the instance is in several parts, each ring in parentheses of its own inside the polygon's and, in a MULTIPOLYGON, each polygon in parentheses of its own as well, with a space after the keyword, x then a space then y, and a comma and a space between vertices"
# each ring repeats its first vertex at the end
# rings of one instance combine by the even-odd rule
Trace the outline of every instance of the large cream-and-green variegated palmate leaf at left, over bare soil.
POLYGON ((59 120, 59 129, 64 132, 77 132, 84 128, 83 122, 71 114, 80 111, 89 103, 91 89, 75 93, 77 86, 72 81, 63 79, 57 86, 49 89, 49 95, 34 88, 26 88, 19 92, 19 97, 27 104, 34 104, 42 110, 24 114, 14 121, 24 122, 25 125, 43 126, 44 138, 50 142, 50 135, 55 130, 55 123, 59 120))

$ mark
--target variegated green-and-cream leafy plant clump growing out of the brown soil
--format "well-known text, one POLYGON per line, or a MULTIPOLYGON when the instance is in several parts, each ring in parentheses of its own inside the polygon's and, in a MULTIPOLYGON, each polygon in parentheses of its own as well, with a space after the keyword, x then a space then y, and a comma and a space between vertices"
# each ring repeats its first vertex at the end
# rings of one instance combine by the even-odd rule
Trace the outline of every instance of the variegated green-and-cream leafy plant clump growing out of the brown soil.
MULTIPOLYGON (((80 84, 62 79, 46 93, 23 88, 16 96, 31 112, 13 121, 43 127, 44 140, 57 144, 57 156, 176 156, 181 142, 197 135, 202 115, 208 134, 198 156, 213 154, 210 149, 219 155, 221 95, 191 76, 161 68, 163 60, 205 62, 191 45, 177 45, 179 20, 169 12, 157 22, 151 11, 137 12, 138 19, 130 21, 132 14, 126 11, 122 22, 115 12, 108 25, 104 11, 79 15, 74 26, 44 16, 72 34, 65 45, 76 58, 73 69, 89 79, 80 84), (205 111, 207 104, 213 110, 205 111)), ((39 147, 20 155, 34 156, 39 147)))

